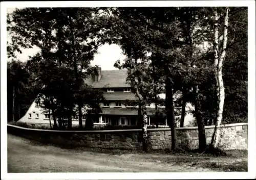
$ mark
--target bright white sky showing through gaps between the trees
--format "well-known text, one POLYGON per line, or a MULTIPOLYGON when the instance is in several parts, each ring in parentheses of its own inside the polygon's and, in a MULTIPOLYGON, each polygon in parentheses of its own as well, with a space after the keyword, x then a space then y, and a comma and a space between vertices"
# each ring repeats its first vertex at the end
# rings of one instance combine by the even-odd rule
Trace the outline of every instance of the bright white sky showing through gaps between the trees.
MULTIPOLYGON (((8 8, 7 13, 11 13, 15 8, 8 8)), ((7 40, 10 40, 10 36, 7 36, 7 40)), ((36 46, 33 48, 22 49, 22 54, 16 53, 17 59, 26 62, 29 56, 35 55, 40 49, 36 46)), ((91 65, 99 65, 102 70, 116 69, 114 67, 115 62, 120 59, 123 60, 125 56, 122 54, 122 50, 117 44, 104 44, 98 49, 98 53, 95 54, 94 60, 91 65)))

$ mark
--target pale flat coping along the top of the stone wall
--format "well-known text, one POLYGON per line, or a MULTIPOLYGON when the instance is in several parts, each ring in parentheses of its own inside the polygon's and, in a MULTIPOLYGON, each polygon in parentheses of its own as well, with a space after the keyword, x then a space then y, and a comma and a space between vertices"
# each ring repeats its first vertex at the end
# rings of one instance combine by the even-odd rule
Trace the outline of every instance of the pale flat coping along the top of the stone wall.
MULTIPOLYGON (((241 125, 248 125, 248 123, 233 123, 233 124, 221 124, 220 127, 232 127, 232 126, 241 126, 241 125)), ((7 124, 7 126, 19 128, 22 130, 29 130, 29 131, 41 131, 41 132, 58 132, 58 133, 114 133, 114 132, 139 132, 142 131, 141 129, 133 129, 133 130, 94 130, 94 131, 60 131, 60 130, 41 130, 37 128, 27 128, 27 127, 20 127, 17 125, 7 124)), ((205 129, 208 128, 215 128, 215 125, 208 125, 205 126, 205 129)), ((197 130, 198 127, 177 127, 176 130, 197 130)), ((149 128, 147 129, 148 132, 151 131, 170 131, 170 128, 149 128)))

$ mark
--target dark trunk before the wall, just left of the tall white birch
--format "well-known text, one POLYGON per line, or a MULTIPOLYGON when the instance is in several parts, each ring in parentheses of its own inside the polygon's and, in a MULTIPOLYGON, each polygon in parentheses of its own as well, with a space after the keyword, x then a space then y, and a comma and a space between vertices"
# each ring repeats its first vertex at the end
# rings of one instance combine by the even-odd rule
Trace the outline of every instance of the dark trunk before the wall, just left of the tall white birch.
POLYGON ((194 93, 195 93, 195 112, 196 112, 196 119, 198 124, 199 150, 204 151, 206 148, 206 137, 205 137, 204 122, 202 121, 202 112, 200 107, 201 105, 199 100, 198 86, 194 87, 194 93))

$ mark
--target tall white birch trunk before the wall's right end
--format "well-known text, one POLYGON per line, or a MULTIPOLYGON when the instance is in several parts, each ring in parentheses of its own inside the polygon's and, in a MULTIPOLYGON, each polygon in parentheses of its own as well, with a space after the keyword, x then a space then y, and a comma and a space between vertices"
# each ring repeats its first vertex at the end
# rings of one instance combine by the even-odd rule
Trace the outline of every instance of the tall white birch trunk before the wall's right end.
MULTIPOLYGON (((216 13, 217 14, 217 13, 216 13)), ((217 113, 217 121, 215 124, 214 135, 212 136, 211 146, 214 148, 218 148, 220 143, 220 124, 222 122, 222 114, 223 114, 223 106, 225 99, 225 88, 222 79, 222 65, 226 56, 226 46, 227 46, 227 27, 228 27, 228 8, 226 8, 226 14, 224 19, 224 33, 223 33, 223 46, 222 52, 218 56, 218 66, 217 66, 217 83, 218 83, 218 113, 217 113)), ((215 37, 216 38, 216 37, 215 37)))

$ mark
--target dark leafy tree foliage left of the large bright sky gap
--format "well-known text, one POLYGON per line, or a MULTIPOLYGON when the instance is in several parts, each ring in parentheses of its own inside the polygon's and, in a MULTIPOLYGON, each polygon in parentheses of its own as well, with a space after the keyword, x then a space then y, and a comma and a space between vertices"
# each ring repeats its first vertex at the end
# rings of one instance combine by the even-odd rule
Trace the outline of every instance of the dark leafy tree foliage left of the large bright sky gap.
POLYGON ((16 9, 8 21, 8 30, 22 37, 18 43, 41 49, 30 57, 28 69, 35 76, 43 107, 58 112, 60 120, 70 119, 76 104, 99 109, 96 104, 102 94, 84 84, 98 47, 95 12, 93 8, 25 8, 16 9))

